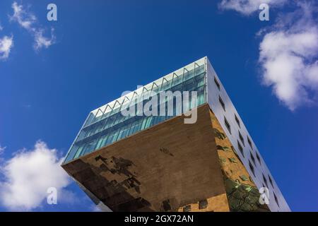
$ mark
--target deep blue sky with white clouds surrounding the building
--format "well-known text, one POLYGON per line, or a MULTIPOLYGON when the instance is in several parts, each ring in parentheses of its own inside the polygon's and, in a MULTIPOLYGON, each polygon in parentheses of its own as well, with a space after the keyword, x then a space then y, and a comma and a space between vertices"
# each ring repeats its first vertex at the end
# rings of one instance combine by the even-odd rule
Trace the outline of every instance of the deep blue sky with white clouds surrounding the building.
POLYGON ((317 8, 265 0, 260 21, 233 1, 56 0, 57 21, 52 1, 16 1, 16 16, 1 1, 0 210, 94 210, 71 182, 58 205, 13 200, 16 162, 47 150, 54 171, 92 109, 208 56, 290 208, 317 211, 317 8))

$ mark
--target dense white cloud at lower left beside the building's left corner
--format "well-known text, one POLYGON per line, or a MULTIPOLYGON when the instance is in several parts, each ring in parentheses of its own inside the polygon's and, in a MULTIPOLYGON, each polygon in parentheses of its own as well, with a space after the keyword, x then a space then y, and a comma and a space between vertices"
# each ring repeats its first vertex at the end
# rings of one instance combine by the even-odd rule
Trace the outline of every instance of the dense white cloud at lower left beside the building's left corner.
POLYGON ((33 210, 47 198, 47 189, 57 189, 57 202, 61 197, 70 197, 64 189, 70 179, 61 168, 62 158, 57 150, 37 141, 33 150, 15 153, 1 166, 0 201, 9 210, 33 210))

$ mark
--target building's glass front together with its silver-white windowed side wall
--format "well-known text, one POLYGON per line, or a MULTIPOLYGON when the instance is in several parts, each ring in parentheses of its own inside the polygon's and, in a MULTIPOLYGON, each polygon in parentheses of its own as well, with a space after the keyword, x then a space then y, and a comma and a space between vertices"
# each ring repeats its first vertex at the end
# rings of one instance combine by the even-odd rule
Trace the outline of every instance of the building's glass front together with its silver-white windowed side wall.
MULTIPOLYGON (((220 122, 220 126, 225 131, 249 175, 252 175, 257 187, 269 189, 270 210, 290 211, 257 146, 207 57, 194 61, 192 64, 188 64, 90 112, 66 155, 64 165, 83 155, 100 150, 107 145, 112 145, 112 143, 133 136, 139 131, 185 113, 184 108, 179 109, 174 102, 172 115, 146 116, 145 114, 139 114, 139 108, 137 107, 139 104, 147 102, 155 95, 159 95, 161 91, 167 90, 172 92, 196 91, 197 101, 194 102, 190 98, 187 110, 207 103, 220 122), (133 105, 136 114, 126 116, 122 114, 122 109, 133 105)), ((165 102, 170 101, 168 99, 165 102)), ((158 105, 153 105, 153 107, 159 109, 160 105, 161 103, 158 102, 158 105)), ((167 105, 165 105, 165 112, 167 113, 167 111, 167 105)))

